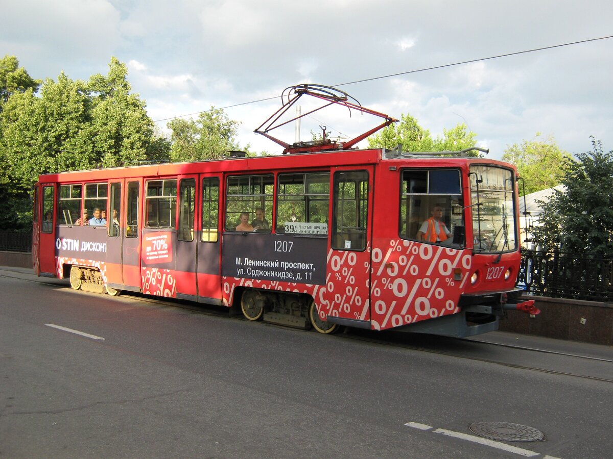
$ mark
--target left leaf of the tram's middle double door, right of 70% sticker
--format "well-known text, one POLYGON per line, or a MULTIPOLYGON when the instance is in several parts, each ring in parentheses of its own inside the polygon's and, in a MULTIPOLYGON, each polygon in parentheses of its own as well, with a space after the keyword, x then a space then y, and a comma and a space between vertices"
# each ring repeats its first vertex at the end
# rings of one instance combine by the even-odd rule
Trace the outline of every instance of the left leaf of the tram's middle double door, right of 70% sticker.
POLYGON ((196 300, 196 226, 198 176, 180 175, 178 179, 177 232, 173 256, 175 257, 175 278, 177 280, 177 297, 196 300))

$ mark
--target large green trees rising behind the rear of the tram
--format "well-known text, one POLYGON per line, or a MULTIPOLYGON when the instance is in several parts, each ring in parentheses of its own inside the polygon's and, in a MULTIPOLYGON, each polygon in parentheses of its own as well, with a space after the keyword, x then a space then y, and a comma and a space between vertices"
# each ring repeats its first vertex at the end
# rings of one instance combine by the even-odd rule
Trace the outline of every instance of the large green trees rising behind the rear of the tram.
MULTIPOLYGON (((168 159, 169 142, 154 133, 145 102, 130 93, 127 73, 112 58, 106 76, 85 82, 61 73, 57 81, 45 80, 40 94, 35 80, 7 92, 0 113, 0 201, 25 207, 21 201, 40 174, 168 159)), ((20 75, 21 84, 28 83, 27 72, 20 75)), ((31 215, 18 220, 28 226, 31 215)), ((0 215, 0 228, 12 228, 12 222, 0 215)))

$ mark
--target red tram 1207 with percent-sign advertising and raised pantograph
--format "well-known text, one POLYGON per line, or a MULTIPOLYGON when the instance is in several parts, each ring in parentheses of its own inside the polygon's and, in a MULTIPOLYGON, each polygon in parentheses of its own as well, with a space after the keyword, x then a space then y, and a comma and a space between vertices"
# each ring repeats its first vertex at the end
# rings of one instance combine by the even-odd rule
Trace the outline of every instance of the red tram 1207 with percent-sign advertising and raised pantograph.
POLYGON ((515 286, 514 166, 466 151, 358 149, 396 120, 327 86, 284 96, 256 129, 284 155, 41 175, 37 275, 324 334, 348 326, 465 337, 497 329, 508 310, 538 313, 515 286), (304 95, 383 123, 344 143, 325 132, 294 144, 273 137, 304 95))

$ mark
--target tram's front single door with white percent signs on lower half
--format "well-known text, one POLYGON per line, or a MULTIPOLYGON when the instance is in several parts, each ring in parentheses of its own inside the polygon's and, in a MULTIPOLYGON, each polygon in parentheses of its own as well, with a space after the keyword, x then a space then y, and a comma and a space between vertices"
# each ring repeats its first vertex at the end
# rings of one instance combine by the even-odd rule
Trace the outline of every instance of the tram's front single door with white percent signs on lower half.
POLYGON ((319 305, 319 315, 338 316, 370 328, 367 285, 374 168, 337 167, 332 171, 332 234, 325 301, 319 305))

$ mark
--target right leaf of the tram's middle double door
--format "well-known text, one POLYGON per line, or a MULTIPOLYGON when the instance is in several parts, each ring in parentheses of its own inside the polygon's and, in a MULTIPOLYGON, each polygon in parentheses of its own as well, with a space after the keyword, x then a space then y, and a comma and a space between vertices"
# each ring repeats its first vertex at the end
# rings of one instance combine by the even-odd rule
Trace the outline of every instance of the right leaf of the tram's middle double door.
POLYGON ((219 220, 219 176, 200 176, 197 236, 198 300, 221 303, 221 222, 219 220))

